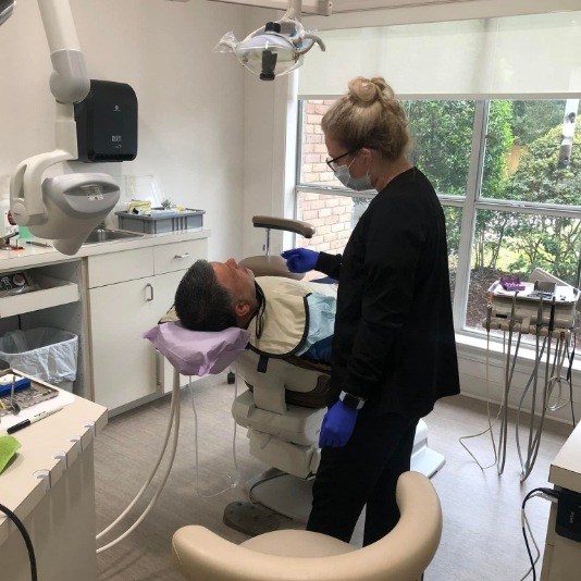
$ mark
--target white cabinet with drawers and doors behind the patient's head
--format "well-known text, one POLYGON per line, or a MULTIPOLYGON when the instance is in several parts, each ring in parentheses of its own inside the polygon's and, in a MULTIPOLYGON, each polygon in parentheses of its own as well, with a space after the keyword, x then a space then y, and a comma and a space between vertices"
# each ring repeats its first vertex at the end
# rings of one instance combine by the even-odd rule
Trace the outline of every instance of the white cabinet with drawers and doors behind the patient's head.
POLYGON ((194 239, 87 258, 94 398, 113 415, 171 388, 163 359, 143 334, 206 254, 206 239, 194 239))

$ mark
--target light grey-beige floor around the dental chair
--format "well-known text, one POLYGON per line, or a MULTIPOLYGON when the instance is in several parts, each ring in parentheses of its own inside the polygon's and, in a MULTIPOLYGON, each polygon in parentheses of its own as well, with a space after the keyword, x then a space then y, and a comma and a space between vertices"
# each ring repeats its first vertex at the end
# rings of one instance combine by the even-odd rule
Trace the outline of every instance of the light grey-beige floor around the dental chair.
MULTIPOLYGON (((100 581, 183 579, 171 561, 171 537, 185 524, 202 524, 236 543, 247 539, 222 522, 223 510, 231 502, 246 500, 244 483, 268 467, 249 455, 244 429, 237 428, 234 441, 230 412, 233 397, 234 386, 226 383, 225 374, 203 378, 194 382, 190 390, 182 391, 180 438, 165 486, 144 521, 98 555, 100 581)), ((170 408, 171 398, 165 396, 116 416, 97 437, 98 531, 126 509, 151 472, 168 432, 170 408)), ((495 411, 496 408, 493 416, 495 411)), ((460 445, 459 437, 486 429, 486 404, 465 396, 438 401, 425 418, 430 447, 446 458, 445 466, 432 479, 442 502, 444 532, 425 572, 427 581, 518 581, 529 569, 521 532, 522 498, 530 490, 548 485, 551 460, 572 425, 545 423, 534 468, 521 483, 514 412, 509 413, 506 463, 500 475, 495 466, 481 469, 460 445)), ((521 425, 521 438, 527 434, 521 425)), ((489 434, 465 442, 482 466, 494 461, 489 434)), ((162 461, 160 474, 166 467, 168 461, 162 461)), ((159 487, 160 474, 153 479, 151 492, 146 491, 120 526, 99 540, 99 546, 113 542, 139 518, 159 487)), ((541 498, 527 504, 541 559, 548 510, 548 502, 541 498)), ((283 519, 282 527, 300 526, 283 519)), ((361 539, 360 519, 351 543, 360 545, 361 539)))

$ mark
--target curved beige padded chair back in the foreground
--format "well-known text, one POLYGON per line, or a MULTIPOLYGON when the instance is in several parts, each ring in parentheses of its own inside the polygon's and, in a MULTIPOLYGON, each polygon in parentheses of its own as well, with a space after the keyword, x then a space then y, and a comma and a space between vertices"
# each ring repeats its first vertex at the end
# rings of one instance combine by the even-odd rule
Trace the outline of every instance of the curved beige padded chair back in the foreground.
POLYGON ((363 548, 302 530, 273 531, 236 545, 208 529, 178 529, 174 563, 186 579, 213 581, 415 581, 442 536, 442 508, 430 480, 405 472, 397 481, 396 527, 363 548))

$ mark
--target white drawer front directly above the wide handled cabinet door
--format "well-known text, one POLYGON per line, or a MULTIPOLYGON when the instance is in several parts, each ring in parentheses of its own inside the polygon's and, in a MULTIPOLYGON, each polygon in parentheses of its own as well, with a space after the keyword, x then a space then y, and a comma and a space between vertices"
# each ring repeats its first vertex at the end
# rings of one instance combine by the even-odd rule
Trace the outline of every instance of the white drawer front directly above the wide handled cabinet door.
POLYGON ((89 288, 153 275, 153 248, 88 257, 89 288))

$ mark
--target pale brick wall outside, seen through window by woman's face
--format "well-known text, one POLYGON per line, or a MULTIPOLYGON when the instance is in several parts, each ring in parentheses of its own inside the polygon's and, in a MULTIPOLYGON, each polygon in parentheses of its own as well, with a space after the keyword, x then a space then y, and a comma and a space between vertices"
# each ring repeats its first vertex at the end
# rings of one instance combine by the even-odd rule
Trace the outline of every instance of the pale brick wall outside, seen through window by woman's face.
MULTIPOLYGON (((302 126, 301 182, 307 184, 337 184, 325 163, 327 151, 321 131, 321 120, 333 101, 305 101, 302 126)), ((319 251, 341 252, 351 233, 354 202, 350 197, 325 194, 298 195, 297 218, 317 228, 307 240, 297 237, 299 246, 319 251)))

